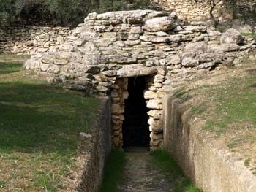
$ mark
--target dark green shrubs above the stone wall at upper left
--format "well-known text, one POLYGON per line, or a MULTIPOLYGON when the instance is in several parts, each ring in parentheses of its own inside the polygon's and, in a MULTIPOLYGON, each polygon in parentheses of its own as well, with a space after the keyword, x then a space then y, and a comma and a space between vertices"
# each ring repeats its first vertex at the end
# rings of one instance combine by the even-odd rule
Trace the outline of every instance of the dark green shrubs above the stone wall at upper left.
POLYGON ((76 26, 89 12, 138 9, 148 0, 0 0, 0 26, 50 24, 76 26))

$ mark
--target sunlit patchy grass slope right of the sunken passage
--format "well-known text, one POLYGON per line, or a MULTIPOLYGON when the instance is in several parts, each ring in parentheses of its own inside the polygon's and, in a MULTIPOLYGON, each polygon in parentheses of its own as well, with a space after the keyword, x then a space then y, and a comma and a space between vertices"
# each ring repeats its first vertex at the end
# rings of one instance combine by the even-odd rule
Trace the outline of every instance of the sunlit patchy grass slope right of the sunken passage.
POLYGON ((191 108, 194 118, 204 120, 203 129, 242 155, 256 174, 256 61, 194 82, 176 96, 184 101, 197 98, 191 108))

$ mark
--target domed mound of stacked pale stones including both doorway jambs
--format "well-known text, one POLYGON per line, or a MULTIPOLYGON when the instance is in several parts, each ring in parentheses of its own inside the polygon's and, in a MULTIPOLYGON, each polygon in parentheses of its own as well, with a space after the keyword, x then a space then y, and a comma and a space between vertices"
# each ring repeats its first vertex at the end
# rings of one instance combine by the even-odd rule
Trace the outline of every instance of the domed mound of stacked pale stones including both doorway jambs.
POLYGON ((255 47, 236 30, 221 34, 175 14, 152 10, 91 13, 54 52, 37 54, 26 69, 70 89, 112 97, 112 144, 121 147, 129 77, 145 76, 151 150, 162 147, 162 98, 194 77, 238 64, 255 47))

